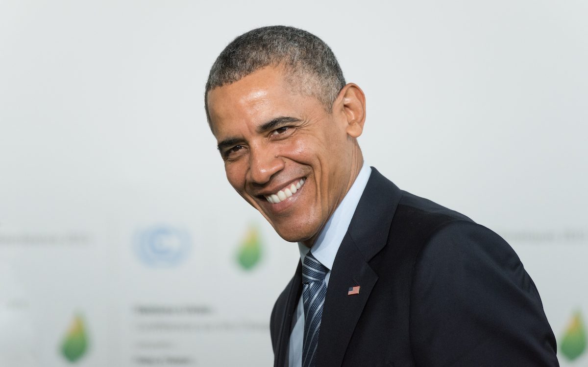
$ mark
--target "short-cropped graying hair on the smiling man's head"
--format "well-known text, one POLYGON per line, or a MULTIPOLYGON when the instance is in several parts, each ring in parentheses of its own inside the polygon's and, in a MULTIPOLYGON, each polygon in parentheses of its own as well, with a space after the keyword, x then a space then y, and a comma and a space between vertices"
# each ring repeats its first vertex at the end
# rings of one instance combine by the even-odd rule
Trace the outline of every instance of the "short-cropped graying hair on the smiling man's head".
MULTIPOLYGON (((328 112, 345 86, 345 78, 335 54, 322 39, 302 29, 273 25, 253 29, 235 38, 212 65, 206 82, 204 105, 206 118, 208 92, 235 83, 266 66, 285 66, 291 74, 310 76, 305 92, 315 96, 328 112)), ((212 126, 211 126, 212 127, 212 126)))

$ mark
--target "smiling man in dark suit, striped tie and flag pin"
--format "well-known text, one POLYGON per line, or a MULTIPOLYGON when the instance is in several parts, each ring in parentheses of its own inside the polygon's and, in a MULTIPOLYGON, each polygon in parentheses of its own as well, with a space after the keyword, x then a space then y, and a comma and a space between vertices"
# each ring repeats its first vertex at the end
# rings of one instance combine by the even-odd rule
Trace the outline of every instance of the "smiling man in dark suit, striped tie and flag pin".
POLYGON ((276 366, 557 366, 512 248, 363 162, 365 97, 319 38, 239 36, 205 106, 230 184, 299 245, 270 319, 276 366))

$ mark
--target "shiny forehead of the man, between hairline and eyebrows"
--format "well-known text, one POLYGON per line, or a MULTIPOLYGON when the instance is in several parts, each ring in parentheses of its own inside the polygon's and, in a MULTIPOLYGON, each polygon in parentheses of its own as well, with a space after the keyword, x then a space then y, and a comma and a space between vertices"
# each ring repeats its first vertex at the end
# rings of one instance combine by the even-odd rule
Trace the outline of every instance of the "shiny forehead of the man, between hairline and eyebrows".
POLYGON ((208 110, 215 136, 233 134, 239 126, 258 126, 278 116, 302 117, 316 99, 297 93, 290 80, 283 68, 268 66, 210 90, 208 110))

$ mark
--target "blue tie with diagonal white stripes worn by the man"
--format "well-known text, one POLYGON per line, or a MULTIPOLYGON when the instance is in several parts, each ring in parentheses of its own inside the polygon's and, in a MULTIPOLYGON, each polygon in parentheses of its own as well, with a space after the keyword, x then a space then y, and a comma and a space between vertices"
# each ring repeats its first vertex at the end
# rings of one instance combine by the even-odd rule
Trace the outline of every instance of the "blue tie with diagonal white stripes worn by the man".
POLYGON ((327 285, 325 265, 310 253, 302 263, 302 301, 304 304, 304 339, 302 342, 302 367, 316 366, 316 346, 319 344, 320 319, 327 285))

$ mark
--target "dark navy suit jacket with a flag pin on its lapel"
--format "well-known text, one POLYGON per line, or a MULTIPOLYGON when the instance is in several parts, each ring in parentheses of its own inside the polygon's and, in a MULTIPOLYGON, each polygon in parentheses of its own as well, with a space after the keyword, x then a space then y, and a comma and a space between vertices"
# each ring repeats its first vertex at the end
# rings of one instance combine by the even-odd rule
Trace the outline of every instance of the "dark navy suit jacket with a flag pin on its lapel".
MULTIPOLYGON (((275 366, 288 365, 300 269, 272 311, 275 366)), ((372 168, 331 271, 316 365, 557 366, 555 351, 509 244, 372 168)))

